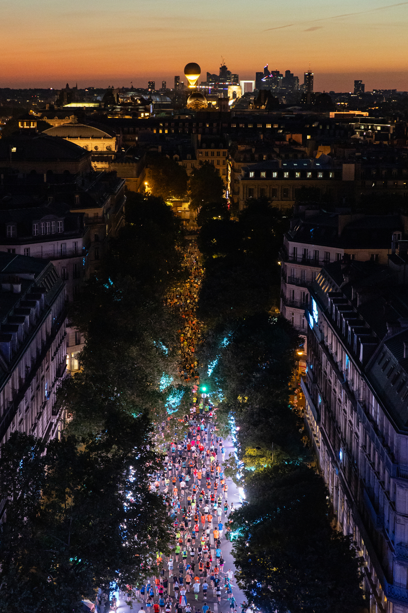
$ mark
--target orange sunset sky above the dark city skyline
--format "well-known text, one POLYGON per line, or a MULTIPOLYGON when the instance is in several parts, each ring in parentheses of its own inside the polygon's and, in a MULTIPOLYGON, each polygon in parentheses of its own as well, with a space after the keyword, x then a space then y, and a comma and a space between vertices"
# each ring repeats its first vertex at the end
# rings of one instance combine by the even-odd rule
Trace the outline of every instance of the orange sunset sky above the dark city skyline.
POLYGON ((408 2, 13 0, 2 4, 0 87, 156 86, 188 61, 242 79, 268 63, 314 89, 408 90, 408 2))

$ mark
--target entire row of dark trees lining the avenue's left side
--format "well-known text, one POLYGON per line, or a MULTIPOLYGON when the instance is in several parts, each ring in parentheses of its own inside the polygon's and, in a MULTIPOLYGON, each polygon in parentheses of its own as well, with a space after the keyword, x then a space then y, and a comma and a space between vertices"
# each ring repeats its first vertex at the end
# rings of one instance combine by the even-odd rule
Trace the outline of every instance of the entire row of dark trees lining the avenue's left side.
POLYGON ((98 588, 126 589, 154 574, 156 552, 171 542, 165 501, 150 492, 149 473, 161 461, 161 424, 182 427, 180 318, 165 296, 186 274, 183 236, 155 196, 128 194, 125 217, 72 314, 85 348, 80 373, 59 390, 62 440, 14 433, 2 447, 6 613, 80 611, 98 588))

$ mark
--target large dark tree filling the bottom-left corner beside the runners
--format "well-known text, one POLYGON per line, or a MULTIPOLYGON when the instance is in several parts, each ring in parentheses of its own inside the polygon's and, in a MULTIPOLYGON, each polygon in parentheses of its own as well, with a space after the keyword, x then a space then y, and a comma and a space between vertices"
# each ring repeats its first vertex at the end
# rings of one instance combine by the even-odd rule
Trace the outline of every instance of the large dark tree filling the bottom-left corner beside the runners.
POLYGON ((166 507, 149 491, 146 416, 117 413, 97 439, 46 445, 18 432, 2 447, 1 610, 80 611, 115 582, 125 590, 155 571, 171 538, 166 507), (44 452, 45 451, 45 452, 44 452), (43 453, 43 455, 42 455, 43 453))

